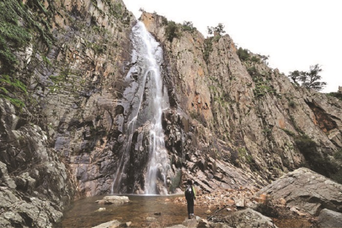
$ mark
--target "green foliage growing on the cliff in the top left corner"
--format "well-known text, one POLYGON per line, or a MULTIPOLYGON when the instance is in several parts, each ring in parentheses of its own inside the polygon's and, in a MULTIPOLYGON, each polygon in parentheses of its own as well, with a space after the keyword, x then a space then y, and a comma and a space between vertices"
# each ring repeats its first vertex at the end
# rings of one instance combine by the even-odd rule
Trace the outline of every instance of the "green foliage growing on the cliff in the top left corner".
POLYGON ((18 64, 13 50, 26 46, 33 32, 37 32, 47 46, 52 44, 53 36, 46 21, 51 13, 39 0, 26 4, 18 0, 1 0, 0 12, 0 61, 6 66, 1 72, 8 73, 18 64), (36 13, 29 12, 30 8, 36 13))

